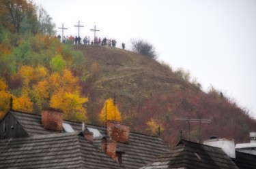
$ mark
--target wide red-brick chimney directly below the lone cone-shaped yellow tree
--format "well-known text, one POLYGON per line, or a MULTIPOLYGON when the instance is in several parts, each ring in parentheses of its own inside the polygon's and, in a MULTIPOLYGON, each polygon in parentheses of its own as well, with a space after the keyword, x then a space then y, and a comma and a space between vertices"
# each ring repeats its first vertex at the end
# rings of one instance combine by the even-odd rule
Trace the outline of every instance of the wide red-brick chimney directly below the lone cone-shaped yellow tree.
POLYGON ((129 143, 129 126, 122 124, 118 121, 106 122, 106 135, 112 140, 119 143, 129 143))

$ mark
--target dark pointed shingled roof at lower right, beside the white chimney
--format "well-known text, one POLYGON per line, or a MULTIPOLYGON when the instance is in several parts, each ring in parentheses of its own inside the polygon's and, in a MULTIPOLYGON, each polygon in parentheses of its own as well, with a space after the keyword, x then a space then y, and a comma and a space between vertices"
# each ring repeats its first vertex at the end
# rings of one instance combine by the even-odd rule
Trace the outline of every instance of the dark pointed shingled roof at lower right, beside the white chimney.
POLYGON ((141 169, 238 169, 222 149, 181 140, 180 143, 141 169))

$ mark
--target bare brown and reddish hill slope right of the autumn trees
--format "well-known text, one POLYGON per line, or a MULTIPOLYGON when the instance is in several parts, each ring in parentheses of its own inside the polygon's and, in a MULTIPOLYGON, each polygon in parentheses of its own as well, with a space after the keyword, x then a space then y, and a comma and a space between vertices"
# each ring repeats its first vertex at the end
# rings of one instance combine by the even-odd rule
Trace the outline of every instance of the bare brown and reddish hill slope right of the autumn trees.
POLYGON ((138 132, 155 134, 147 125, 161 126, 161 137, 173 145, 180 130, 183 136, 199 141, 214 134, 234 138, 236 142, 248 141, 248 132, 255 130, 256 121, 229 98, 212 90, 205 94, 197 86, 184 81, 168 67, 134 52, 94 45, 75 45, 87 59, 91 78, 84 84, 89 94, 88 113, 91 121, 102 109, 104 100, 116 98, 124 122, 138 132), (182 118, 207 118, 210 124, 175 120, 182 118))

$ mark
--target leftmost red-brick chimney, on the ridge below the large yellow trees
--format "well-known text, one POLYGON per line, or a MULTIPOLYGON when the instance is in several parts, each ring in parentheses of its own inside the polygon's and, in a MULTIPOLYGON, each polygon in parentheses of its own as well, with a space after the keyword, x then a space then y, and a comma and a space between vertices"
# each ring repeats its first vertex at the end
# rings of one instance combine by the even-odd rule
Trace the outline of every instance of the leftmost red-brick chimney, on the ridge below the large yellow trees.
POLYGON ((61 131, 63 121, 63 111, 48 108, 42 110, 42 126, 49 130, 61 131))

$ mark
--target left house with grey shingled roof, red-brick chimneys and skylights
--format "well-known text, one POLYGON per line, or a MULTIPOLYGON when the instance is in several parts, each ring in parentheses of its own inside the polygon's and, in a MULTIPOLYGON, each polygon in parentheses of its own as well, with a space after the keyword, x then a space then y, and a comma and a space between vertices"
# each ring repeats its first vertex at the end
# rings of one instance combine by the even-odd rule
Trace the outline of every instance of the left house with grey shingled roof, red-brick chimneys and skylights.
POLYGON ((57 109, 9 111, 0 121, 0 168, 141 168, 168 149, 156 136, 62 119, 57 109))

